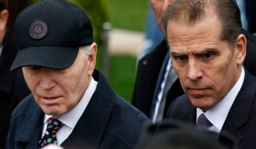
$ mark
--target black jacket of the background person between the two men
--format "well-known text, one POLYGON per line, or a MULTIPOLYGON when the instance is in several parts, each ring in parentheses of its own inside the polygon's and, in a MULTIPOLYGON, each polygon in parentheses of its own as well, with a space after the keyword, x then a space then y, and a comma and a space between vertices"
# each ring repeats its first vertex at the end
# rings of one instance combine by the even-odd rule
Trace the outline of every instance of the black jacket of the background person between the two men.
MULTIPOLYGON (((138 62, 136 82, 132 96, 132 104, 151 117, 152 109, 158 94, 158 88, 163 81, 163 74, 160 74, 161 67, 166 67, 164 58, 169 55, 169 46, 166 40, 161 41, 153 51, 142 57, 138 62)), ((164 69, 165 70, 165 69, 164 69)), ((180 80, 177 79, 169 90, 165 103, 165 118, 169 105, 178 96, 184 94, 180 86, 180 80)))

